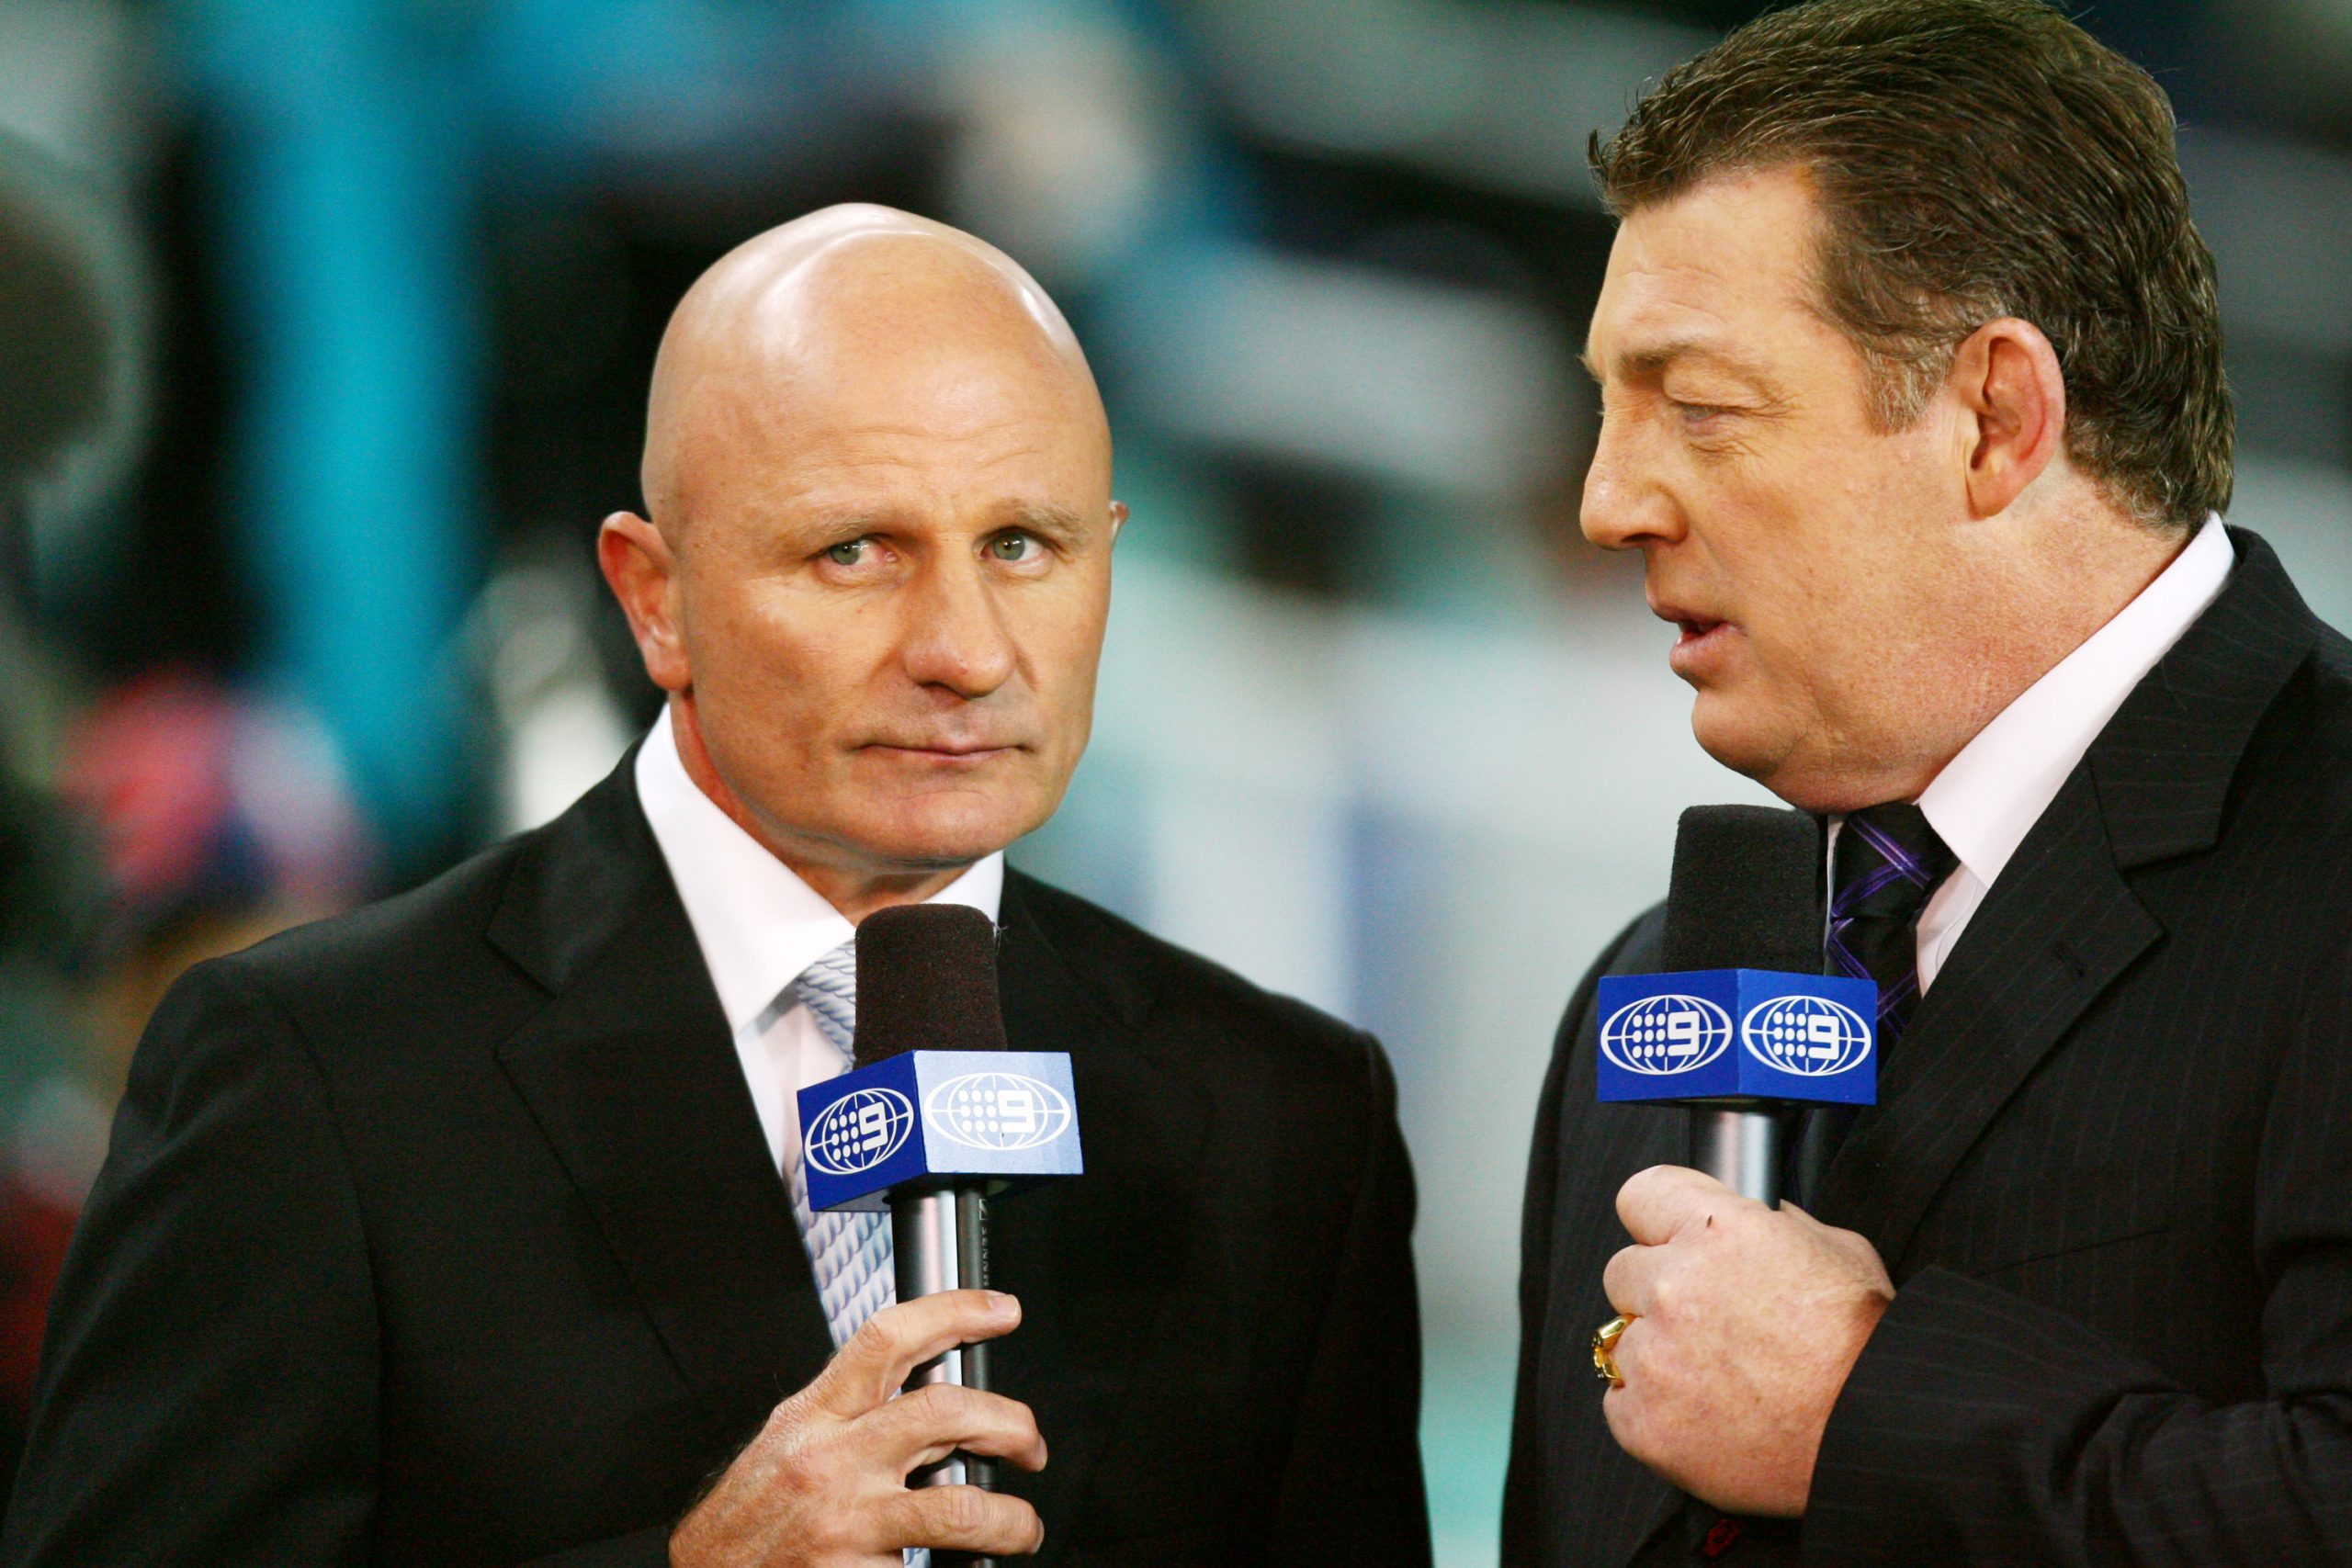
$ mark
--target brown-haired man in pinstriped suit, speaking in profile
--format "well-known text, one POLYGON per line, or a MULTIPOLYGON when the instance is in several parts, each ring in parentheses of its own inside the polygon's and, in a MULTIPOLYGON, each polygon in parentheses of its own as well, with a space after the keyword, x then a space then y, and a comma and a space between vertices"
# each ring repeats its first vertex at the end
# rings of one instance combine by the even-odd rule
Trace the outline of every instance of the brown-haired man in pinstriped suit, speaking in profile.
POLYGON ((1583 527, 1700 745, 1825 818, 1879 1103, 1811 1114, 1802 1208, 1738 1199, 1595 1105, 1585 980, 1505 1561, 2345 1561, 2352 644, 2218 517, 2164 94, 2030 0, 1825 0, 1592 165, 1583 527))

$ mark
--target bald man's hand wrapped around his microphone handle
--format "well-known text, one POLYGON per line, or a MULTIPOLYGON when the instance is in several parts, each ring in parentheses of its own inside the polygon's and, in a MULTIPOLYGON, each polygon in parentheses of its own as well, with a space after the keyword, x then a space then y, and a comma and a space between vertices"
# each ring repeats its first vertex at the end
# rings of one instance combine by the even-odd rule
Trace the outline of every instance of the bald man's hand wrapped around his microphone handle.
POLYGON ((976 1486, 906 1486, 957 1448, 1044 1469, 1030 1408, 946 1385, 894 1399, 931 1356, 1018 1321, 1021 1302, 997 1291, 941 1291, 875 1312, 677 1526, 673 1568, 898 1568, 901 1547, 1035 1552, 1044 1523, 1028 1502, 976 1486))

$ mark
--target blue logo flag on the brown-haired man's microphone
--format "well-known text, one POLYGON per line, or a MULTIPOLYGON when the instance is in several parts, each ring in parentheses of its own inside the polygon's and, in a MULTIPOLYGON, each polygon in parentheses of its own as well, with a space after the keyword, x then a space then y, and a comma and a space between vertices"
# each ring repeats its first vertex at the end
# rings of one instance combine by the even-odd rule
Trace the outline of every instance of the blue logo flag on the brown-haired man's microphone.
POLYGON ((1602 976, 1599 1098, 1870 1105, 1877 1006, 1877 983, 1849 976, 1602 976))

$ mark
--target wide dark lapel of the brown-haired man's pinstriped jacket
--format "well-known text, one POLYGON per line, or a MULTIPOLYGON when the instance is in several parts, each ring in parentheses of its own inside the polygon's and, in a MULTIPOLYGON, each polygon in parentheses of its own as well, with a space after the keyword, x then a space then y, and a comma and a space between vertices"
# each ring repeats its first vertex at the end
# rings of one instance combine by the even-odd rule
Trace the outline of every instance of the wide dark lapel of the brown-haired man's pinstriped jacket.
POLYGON ((1903 1251, 2002 1105, 2161 936, 2126 872, 2211 849, 2253 726, 2317 621, 2253 534, 2230 583, 2100 731, 1971 917, 1853 1121, 1820 1215, 1903 1251))

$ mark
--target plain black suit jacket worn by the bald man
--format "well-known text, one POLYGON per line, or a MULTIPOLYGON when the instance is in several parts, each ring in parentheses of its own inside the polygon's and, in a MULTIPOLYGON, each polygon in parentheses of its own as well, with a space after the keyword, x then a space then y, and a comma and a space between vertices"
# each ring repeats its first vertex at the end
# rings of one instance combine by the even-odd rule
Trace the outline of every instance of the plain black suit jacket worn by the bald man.
MULTIPOLYGON (((1428 1563, 1411 1173, 1371 1037, 1025 877, 1087 1173, 993 1213, 1040 1563, 1428 1563)), ((205 964, 132 1065, 7 1563, 663 1563, 830 1356, 630 766, 205 964)))

